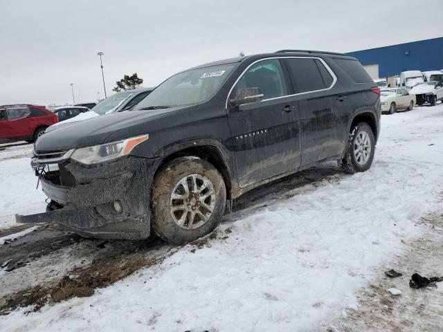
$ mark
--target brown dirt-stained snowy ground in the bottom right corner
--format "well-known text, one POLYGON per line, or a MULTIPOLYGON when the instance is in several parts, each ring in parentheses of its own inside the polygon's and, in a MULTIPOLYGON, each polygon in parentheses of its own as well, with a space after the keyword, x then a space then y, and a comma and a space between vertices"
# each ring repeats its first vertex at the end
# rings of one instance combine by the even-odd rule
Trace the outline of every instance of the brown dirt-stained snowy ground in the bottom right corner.
POLYGON ((413 273, 443 277, 443 214, 426 216, 421 223, 427 226, 424 236, 405 243, 407 250, 383 266, 402 276, 382 275, 362 289, 358 308, 348 308, 347 317, 330 324, 327 331, 442 331, 443 282, 419 289, 409 286, 413 273), (401 293, 392 295, 388 288, 401 293))

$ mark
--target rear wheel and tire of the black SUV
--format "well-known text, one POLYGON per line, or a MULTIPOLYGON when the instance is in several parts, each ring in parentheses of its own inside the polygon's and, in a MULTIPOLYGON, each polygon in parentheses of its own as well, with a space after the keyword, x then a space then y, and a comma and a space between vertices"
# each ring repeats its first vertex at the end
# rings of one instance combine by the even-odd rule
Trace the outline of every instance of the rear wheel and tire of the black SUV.
POLYGON ((360 122, 352 128, 347 141, 345 157, 339 161, 339 164, 347 174, 365 172, 372 165, 374 152, 374 133, 366 122, 360 122))

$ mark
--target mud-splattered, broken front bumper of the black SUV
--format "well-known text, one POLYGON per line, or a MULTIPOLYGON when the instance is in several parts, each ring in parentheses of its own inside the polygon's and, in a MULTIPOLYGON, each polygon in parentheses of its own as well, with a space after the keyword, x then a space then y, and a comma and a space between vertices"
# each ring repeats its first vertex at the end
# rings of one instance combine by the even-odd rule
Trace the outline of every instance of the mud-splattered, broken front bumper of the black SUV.
POLYGON ((55 222, 87 237, 150 236, 150 184, 156 158, 127 156, 86 167, 69 159, 33 158, 45 194, 58 210, 16 215, 17 223, 55 222), (42 172, 43 170, 43 172, 42 172))

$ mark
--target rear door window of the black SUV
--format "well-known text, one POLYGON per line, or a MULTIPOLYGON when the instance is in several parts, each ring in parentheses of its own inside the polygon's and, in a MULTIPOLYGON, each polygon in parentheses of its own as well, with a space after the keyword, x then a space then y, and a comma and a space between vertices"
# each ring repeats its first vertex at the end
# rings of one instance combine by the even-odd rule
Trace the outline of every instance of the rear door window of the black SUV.
MULTIPOLYGON (((289 71, 295 81, 296 93, 325 89, 323 77, 314 59, 287 59, 289 71)), ((330 84, 329 84, 330 85, 330 84)))

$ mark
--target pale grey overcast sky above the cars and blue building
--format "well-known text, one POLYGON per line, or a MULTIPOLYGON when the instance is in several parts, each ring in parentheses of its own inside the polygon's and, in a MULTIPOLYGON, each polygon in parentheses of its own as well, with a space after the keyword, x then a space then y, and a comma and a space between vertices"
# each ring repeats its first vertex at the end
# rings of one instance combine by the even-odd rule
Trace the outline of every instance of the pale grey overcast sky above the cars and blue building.
MULTIPOLYGON (((197 64, 282 48, 349 52, 443 36, 442 0, 0 0, 0 104, 103 98, 197 64), (415 21, 415 24, 411 23, 415 21)), ((443 56, 443 55, 442 55, 443 56)))

